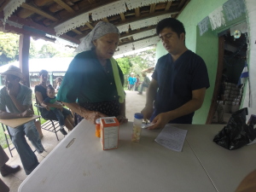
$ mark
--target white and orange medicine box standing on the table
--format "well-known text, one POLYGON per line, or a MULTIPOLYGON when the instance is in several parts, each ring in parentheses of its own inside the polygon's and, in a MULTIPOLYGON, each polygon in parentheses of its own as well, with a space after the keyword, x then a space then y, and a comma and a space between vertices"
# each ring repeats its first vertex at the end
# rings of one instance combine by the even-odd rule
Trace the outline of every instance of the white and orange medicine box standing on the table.
POLYGON ((115 117, 101 118, 101 142, 103 150, 118 148, 119 121, 115 117))

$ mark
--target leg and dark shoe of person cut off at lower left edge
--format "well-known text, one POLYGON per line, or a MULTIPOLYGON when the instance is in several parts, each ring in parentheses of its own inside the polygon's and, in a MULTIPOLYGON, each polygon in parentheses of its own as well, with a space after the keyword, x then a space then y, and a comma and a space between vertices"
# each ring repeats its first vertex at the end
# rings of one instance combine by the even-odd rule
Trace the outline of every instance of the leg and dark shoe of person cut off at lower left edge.
MULTIPOLYGON (((19 172, 20 166, 8 166, 5 163, 9 160, 8 155, 4 152, 2 146, 0 145, 0 172, 3 177, 8 176, 11 173, 19 172)), ((1 192, 9 192, 9 187, 3 183, 0 178, 0 191, 1 192)))

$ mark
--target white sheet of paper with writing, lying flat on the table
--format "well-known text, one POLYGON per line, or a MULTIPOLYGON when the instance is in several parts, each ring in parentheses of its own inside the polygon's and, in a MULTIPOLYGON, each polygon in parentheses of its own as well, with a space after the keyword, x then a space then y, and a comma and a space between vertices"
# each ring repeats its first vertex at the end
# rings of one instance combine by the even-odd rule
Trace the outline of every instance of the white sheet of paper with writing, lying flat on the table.
POLYGON ((160 145, 181 152, 185 141, 187 130, 178 129, 177 127, 166 125, 158 137, 154 139, 160 145))

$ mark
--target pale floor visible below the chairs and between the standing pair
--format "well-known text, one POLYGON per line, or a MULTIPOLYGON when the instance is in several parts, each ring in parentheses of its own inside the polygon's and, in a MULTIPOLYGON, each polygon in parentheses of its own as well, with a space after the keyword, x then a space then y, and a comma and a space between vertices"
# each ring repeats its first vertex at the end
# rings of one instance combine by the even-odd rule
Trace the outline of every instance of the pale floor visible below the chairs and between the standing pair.
MULTIPOLYGON (((143 95, 137 95, 137 91, 127 90, 125 92, 126 92, 126 117, 130 121, 133 121, 134 113, 140 112, 145 106, 146 96, 144 92, 143 92, 143 95)), ((37 152, 35 152, 39 162, 44 160, 44 158, 52 151, 52 149, 55 148, 55 146, 58 143, 60 143, 60 141, 64 138, 60 132, 58 132, 58 137, 60 139, 59 142, 57 141, 54 133, 43 130, 43 134, 44 134, 44 137, 42 138, 42 143, 47 152, 44 152, 43 154, 38 154, 37 152)), ((30 142, 28 141, 28 143, 30 142)), ((20 183, 22 183, 22 181, 26 179, 26 174, 22 168, 22 165, 20 162, 20 156, 17 154, 16 150, 15 149, 12 150, 14 157, 10 156, 8 148, 5 148, 5 152, 6 154, 9 155, 9 161, 7 162, 7 164, 20 165, 21 170, 20 172, 16 172, 15 174, 11 174, 7 177, 2 177, 0 175, 0 178, 3 180, 4 183, 6 183, 9 186, 10 192, 17 192, 20 186, 20 183)))

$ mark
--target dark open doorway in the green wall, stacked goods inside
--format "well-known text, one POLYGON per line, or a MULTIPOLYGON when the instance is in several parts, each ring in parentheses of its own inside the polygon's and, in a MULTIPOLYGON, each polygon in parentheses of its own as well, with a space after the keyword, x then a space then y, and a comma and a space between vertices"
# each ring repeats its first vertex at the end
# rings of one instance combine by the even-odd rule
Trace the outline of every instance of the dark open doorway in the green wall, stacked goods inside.
POLYGON ((218 37, 218 69, 207 124, 226 124, 231 114, 240 108, 243 87, 237 84, 246 61, 247 34, 241 33, 238 37, 230 34, 230 29, 221 32, 218 37))

